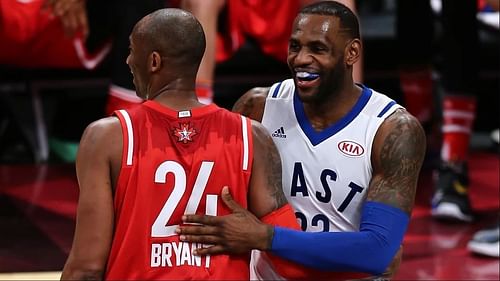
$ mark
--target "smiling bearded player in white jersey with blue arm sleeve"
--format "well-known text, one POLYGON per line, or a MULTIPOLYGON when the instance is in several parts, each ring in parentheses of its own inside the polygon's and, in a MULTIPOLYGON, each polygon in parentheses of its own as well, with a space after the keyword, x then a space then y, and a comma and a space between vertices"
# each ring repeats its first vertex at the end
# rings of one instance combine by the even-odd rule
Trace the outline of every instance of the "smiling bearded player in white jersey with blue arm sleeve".
MULTIPOLYGON (((186 216, 208 227, 178 229, 181 239, 215 245, 198 254, 258 249, 323 271, 384 274, 409 223, 425 133, 389 97, 353 82, 361 52, 347 7, 325 1, 301 10, 289 41, 292 78, 250 90, 234 110, 272 134, 303 232, 268 225, 263 246, 254 239, 260 222, 229 200, 232 215, 186 216)), ((279 278, 265 256, 253 258, 254 278, 279 278)))

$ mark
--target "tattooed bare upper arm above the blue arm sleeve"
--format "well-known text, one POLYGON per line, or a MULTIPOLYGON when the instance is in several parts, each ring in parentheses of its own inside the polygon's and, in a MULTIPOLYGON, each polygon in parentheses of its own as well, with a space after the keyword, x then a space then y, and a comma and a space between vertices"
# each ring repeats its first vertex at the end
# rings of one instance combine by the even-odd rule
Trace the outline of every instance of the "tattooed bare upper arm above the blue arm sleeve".
POLYGON ((425 154, 425 133, 418 121, 405 113, 396 112, 386 122, 391 129, 376 156, 381 169, 372 178, 367 200, 411 213, 425 154))

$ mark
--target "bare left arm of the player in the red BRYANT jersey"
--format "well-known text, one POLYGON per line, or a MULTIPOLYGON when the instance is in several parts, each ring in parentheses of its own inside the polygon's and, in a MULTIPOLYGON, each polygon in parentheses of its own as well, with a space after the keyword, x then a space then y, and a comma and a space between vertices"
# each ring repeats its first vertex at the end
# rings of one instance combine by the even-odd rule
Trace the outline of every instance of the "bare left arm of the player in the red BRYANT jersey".
POLYGON ((80 195, 76 229, 61 279, 104 277, 114 225, 111 154, 121 154, 117 118, 101 119, 85 130, 76 160, 80 195))

